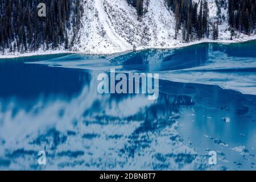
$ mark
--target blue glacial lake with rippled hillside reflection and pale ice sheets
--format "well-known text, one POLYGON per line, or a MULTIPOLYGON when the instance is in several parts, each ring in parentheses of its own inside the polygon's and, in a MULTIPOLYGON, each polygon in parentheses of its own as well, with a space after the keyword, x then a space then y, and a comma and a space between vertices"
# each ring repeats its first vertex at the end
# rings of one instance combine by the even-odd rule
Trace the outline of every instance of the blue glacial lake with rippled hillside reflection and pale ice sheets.
POLYGON ((255 50, 204 43, 0 59, 0 169, 255 170, 255 50), (110 68, 159 73, 158 100, 99 94, 97 76, 110 68))

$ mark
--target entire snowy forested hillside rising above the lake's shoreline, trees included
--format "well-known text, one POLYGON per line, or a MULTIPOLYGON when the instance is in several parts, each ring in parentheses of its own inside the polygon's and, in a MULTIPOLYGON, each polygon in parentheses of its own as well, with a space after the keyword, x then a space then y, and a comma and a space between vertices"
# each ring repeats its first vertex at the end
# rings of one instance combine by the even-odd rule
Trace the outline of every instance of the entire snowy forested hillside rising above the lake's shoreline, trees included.
POLYGON ((2 55, 113 53, 255 35, 256 0, 0 0, 2 55), (38 16, 45 3, 46 17, 38 16))

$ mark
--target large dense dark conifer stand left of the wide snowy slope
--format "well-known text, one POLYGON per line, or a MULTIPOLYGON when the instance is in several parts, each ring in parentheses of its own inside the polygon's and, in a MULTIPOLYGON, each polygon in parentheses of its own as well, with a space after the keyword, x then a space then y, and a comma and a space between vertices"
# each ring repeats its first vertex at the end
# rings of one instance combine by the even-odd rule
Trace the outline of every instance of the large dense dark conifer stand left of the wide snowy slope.
POLYGON ((0 50, 35 51, 72 47, 81 27, 81 0, 0 0, 0 50), (38 16, 39 3, 46 17, 38 16))

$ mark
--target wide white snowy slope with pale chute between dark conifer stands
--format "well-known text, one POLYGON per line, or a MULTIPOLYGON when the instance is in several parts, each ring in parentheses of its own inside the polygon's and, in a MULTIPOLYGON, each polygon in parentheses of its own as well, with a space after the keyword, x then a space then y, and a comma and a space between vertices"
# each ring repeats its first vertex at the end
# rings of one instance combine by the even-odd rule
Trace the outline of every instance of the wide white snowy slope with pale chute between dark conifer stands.
POLYGON ((137 19, 125 0, 92 0, 85 3, 80 42, 86 53, 113 53, 148 47, 174 47, 175 19, 164 0, 151 0, 148 13, 137 19))

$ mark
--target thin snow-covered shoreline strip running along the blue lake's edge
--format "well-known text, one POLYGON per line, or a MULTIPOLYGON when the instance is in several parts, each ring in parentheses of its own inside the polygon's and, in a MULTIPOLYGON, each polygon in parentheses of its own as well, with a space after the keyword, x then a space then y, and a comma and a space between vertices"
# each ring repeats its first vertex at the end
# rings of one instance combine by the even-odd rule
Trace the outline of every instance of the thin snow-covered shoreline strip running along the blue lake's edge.
MULTIPOLYGON (((176 46, 171 47, 141 47, 137 48, 137 51, 143 51, 146 49, 175 49, 175 48, 183 48, 188 46, 195 46, 196 44, 203 44, 203 43, 220 43, 220 44, 238 44, 238 43, 245 43, 256 40, 256 35, 249 36, 249 39, 245 40, 210 40, 210 39, 204 39, 204 40, 198 40, 196 42, 190 42, 190 43, 177 43, 176 46)), ((29 56, 43 56, 43 55, 57 55, 62 53, 75 53, 75 54, 81 54, 81 55, 114 55, 117 53, 125 53, 133 51, 132 49, 127 49, 122 52, 109 52, 109 53, 102 53, 102 52, 80 52, 80 51, 66 51, 66 50, 49 50, 49 51, 34 51, 34 52, 26 52, 26 53, 7 53, 7 55, 0 55, 0 59, 13 59, 18 57, 29 57, 29 56)))

